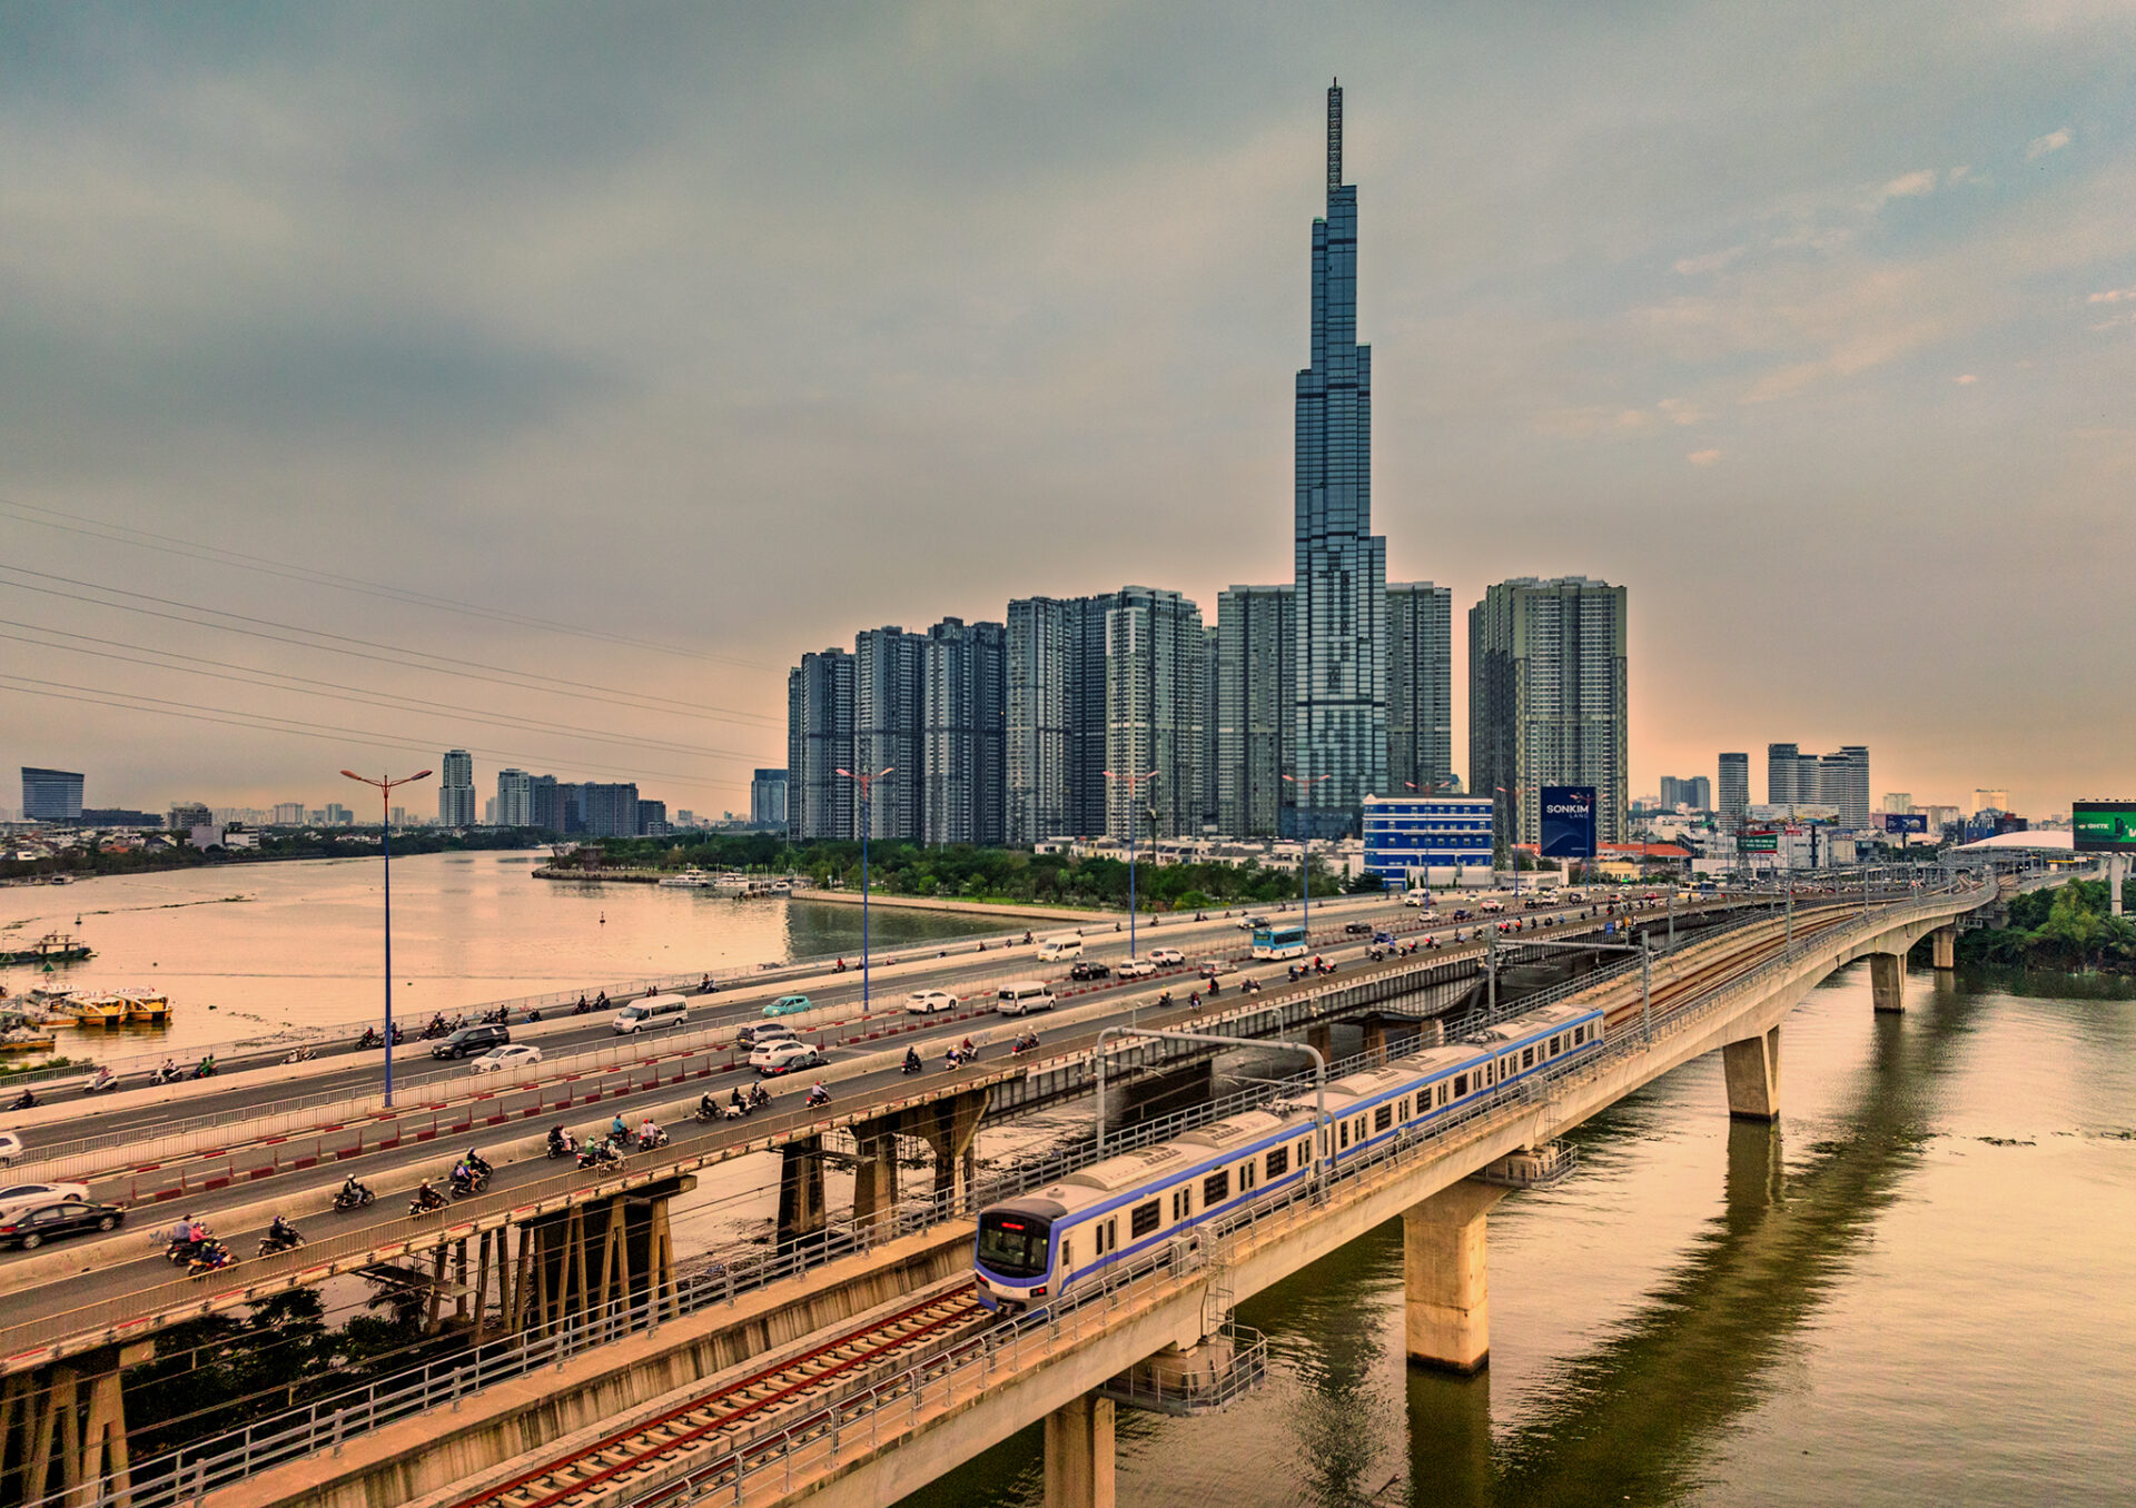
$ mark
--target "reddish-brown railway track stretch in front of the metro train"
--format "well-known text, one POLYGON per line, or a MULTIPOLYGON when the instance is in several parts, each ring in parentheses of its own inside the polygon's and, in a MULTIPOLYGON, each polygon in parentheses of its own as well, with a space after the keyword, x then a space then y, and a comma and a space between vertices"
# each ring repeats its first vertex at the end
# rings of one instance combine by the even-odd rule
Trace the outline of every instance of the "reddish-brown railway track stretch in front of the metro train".
POLYGON ((773 1416, 818 1403, 876 1367, 910 1365, 916 1352, 991 1318, 978 1303, 978 1290, 963 1284, 775 1367, 711 1388, 508 1482, 455 1499, 453 1508, 583 1508, 628 1502, 662 1467, 718 1457, 720 1446, 739 1444, 773 1416))

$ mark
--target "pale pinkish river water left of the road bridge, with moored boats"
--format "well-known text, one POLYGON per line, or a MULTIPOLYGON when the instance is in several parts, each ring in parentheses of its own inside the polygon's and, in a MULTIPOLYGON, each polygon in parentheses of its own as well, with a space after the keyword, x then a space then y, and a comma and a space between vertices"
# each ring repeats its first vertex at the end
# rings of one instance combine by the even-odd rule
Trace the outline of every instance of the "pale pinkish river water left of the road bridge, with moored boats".
MULTIPOLYGON (((861 951, 861 910, 733 901, 656 884, 536 880, 547 852, 412 854, 393 861, 393 1010, 414 1019, 491 1000, 622 980, 754 968, 861 951)), ((85 991, 150 985, 173 1023, 66 1032, 77 1057, 224 1044, 280 1027, 376 1021, 382 1010, 376 859, 173 869, 0 889, 0 946, 47 931, 96 957, 60 972, 85 991), (79 918, 79 925, 77 925, 79 918)), ((1006 931, 1012 918, 871 908, 878 948, 1006 931)), ((11 993, 38 983, 0 972, 11 993)))

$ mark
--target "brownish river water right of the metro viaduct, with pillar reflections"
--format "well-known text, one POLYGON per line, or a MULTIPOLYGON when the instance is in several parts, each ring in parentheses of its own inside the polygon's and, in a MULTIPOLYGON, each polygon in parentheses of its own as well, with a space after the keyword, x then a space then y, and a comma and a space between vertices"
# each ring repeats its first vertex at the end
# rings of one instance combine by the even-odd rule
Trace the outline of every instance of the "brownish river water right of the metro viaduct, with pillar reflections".
MULTIPOLYGON (((1239 1307, 1269 1384, 1119 1414, 1124 1504, 2136 1502, 2136 1002, 1858 963, 1788 1017, 1781 1124, 1719 1057, 1491 1215, 1491 1365, 1401 1354, 1401 1226, 1239 1307)), ((2119 998, 2115 998, 2119 995, 2119 998)), ((1040 1431, 908 1499, 1042 1502, 1040 1431)))

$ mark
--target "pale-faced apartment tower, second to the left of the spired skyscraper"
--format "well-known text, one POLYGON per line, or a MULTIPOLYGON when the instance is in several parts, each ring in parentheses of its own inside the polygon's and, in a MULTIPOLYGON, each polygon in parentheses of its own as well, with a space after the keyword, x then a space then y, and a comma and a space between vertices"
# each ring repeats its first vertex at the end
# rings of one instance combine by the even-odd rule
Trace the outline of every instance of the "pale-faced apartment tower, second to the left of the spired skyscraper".
MULTIPOLYGON (((1111 837, 1192 837, 1203 803, 1200 609, 1179 592, 1121 587, 1104 615, 1104 769, 1111 837)), ((1100 771, 1102 773, 1102 771, 1100 771)))

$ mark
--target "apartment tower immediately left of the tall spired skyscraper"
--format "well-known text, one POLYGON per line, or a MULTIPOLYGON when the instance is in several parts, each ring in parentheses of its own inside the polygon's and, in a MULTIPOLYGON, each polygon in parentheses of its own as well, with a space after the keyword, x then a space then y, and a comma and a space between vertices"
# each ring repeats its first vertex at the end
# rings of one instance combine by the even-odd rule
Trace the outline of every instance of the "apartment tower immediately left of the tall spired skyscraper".
POLYGON ((1228 587, 1215 604, 1215 831, 1277 837, 1297 763, 1297 590, 1228 587))

